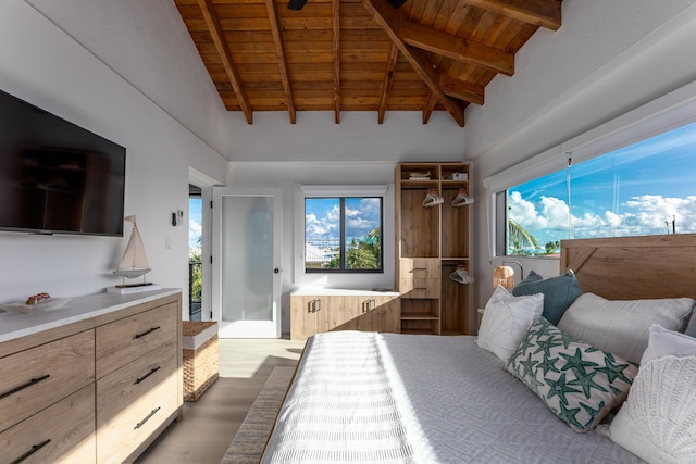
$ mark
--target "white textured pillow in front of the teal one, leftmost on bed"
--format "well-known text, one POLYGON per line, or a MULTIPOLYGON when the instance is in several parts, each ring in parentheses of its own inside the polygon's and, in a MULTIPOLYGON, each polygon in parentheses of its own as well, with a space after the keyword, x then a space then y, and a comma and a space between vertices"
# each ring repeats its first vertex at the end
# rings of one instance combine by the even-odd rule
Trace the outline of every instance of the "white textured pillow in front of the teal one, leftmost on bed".
POLYGON ((486 303, 476 343, 508 361, 530 326, 542 317, 544 294, 513 297, 498 286, 486 303))

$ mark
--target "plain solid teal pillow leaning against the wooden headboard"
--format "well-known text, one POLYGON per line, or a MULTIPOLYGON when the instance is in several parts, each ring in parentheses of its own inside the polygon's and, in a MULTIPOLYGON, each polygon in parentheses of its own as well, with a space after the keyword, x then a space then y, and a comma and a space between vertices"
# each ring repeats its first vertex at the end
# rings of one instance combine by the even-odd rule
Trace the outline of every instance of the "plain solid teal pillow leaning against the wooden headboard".
POLYGON ((580 283, 572 271, 547 279, 532 271, 512 289, 512 294, 515 297, 535 293, 544 293, 542 316, 549 323, 558 325, 566 310, 580 297, 580 283))

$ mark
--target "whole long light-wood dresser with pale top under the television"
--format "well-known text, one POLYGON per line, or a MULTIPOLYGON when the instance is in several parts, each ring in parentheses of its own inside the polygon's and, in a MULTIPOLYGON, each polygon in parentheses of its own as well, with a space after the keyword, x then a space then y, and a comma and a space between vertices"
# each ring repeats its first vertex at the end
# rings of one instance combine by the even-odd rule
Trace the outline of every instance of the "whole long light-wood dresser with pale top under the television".
POLYGON ((50 328, 0 342, 0 463, 130 462, 182 417, 181 292, 140 300, 23 315, 50 328))

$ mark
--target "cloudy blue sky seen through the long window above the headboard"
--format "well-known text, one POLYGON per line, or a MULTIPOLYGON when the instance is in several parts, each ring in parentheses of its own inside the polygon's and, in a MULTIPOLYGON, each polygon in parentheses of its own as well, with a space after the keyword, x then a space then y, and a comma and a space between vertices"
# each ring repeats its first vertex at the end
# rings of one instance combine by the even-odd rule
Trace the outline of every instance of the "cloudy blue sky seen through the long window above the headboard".
POLYGON ((573 238, 696 233, 696 123, 508 190, 509 217, 543 247, 573 238), (669 224, 666 224, 668 222, 669 224))

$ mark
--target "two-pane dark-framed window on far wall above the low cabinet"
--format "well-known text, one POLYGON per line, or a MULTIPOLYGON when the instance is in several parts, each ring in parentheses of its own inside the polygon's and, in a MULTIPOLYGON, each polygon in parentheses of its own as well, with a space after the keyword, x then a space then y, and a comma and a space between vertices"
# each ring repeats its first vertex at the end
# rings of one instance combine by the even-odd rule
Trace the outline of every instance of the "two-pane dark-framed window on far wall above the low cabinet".
POLYGON ((306 197, 304 271, 383 272, 383 197, 306 197))

